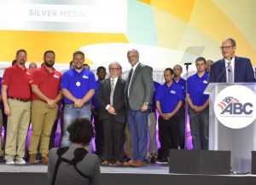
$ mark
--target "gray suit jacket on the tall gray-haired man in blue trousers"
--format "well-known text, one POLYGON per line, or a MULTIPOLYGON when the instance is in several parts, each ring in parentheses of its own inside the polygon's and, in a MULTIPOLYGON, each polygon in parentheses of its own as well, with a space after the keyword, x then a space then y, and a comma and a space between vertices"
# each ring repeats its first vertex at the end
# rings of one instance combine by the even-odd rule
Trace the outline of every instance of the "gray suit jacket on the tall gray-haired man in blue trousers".
MULTIPOLYGON (((129 77, 128 77, 129 78, 129 77)), ((128 107, 128 103, 132 110, 140 110, 144 102, 148 102, 148 109, 150 109, 150 103, 154 94, 154 84, 152 78, 152 70, 149 66, 145 66, 139 63, 132 79, 128 79, 125 85, 125 105, 128 107), (131 81, 129 98, 128 87, 131 81)))

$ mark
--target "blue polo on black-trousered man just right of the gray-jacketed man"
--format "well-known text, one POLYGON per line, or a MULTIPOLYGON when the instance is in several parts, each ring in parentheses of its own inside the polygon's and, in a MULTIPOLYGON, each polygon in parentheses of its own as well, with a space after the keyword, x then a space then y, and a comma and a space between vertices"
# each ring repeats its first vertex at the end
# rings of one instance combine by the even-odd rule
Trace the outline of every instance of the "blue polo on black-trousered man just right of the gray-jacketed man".
POLYGON ((156 92, 155 101, 160 101, 162 113, 172 113, 178 101, 184 101, 183 89, 175 82, 170 87, 166 83, 162 84, 156 92))

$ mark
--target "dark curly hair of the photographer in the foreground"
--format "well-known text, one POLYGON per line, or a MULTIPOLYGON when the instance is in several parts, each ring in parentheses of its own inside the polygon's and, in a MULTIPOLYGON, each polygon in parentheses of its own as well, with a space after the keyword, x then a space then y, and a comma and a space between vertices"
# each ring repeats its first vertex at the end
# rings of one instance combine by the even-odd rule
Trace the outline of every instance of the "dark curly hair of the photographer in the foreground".
POLYGON ((74 119, 67 127, 70 142, 87 145, 94 136, 93 127, 89 119, 74 119))

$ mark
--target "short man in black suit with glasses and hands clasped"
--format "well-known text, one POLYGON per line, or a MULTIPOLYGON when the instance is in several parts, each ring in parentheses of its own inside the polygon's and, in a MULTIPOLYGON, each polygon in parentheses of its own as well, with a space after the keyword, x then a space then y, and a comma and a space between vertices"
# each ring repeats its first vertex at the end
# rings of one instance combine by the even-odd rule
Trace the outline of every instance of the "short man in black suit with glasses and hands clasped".
POLYGON ((109 64, 110 78, 101 81, 97 99, 100 104, 100 119, 103 125, 102 165, 122 165, 125 142, 125 80, 120 77, 121 66, 109 64))

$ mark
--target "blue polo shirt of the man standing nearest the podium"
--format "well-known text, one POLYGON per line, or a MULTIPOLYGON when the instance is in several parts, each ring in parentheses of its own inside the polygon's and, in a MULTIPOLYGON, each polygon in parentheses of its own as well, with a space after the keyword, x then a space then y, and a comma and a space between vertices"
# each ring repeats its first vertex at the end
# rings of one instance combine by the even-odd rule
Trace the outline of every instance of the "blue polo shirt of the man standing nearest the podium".
POLYGON ((188 78, 188 94, 195 106, 204 105, 209 98, 209 95, 203 94, 207 88, 208 78, 207 72, 201 78, 197 73, 188 78))

